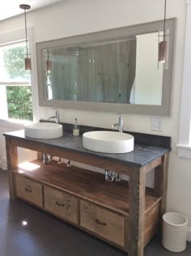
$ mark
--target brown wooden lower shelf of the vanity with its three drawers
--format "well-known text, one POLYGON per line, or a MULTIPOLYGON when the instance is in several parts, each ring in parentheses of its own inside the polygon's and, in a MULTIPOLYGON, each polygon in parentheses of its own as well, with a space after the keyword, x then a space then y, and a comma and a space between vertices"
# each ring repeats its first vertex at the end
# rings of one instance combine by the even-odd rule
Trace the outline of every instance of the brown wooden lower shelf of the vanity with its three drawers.
MULTIPOLYGON (((128 181, 108 182, 101 173, 54 161, 20 164, 13 172, 16 197, 128 251, 128 181)), ((160 199, 146 193, 144 245, 157 228, 160 199)))

